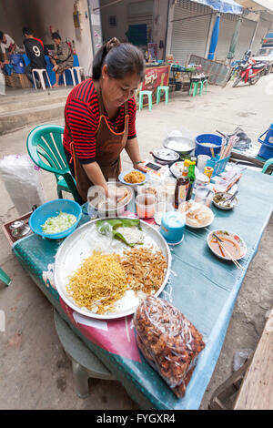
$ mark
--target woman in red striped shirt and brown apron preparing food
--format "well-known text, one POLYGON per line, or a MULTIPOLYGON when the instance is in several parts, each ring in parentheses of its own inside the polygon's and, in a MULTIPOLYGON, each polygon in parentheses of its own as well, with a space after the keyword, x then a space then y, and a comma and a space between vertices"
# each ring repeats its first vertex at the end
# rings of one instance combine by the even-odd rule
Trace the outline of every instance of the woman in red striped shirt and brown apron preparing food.
POLYGON ((111 39, 97 52, 92 79, 77 85, 66 101, 64 148, 82 199, 92 185, 117 180, 125 148, 134 168, 145 171, 136 138, 134 92, 145 76, 142 52, 111 39))

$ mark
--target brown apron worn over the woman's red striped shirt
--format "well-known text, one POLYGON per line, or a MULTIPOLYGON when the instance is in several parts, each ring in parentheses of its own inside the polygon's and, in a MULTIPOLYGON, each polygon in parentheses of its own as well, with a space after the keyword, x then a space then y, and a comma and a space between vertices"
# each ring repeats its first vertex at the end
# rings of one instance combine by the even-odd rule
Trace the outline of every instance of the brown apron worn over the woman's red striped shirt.
MULTIPOLYGON (((128 137, 128 104, 125 103, 125 127, 123 132, 114 132, 107 123, 104 105, 101 97, 99 84, 94 82, 99 107, 99 124, 96 129, 96 162, 102 170, 106 181, 109 178, 118 179, 121 171, 120 153, 126 147, 128 137)), ((68 133, 71 138, 71 159, 74 161, 74 170, 76 178, 76 189, 81 198, 86 202, 87 192, 94 183, 87 177, 86 171, 76 155, 76 145, 72 140, 70 129, 66 123, 68 133)))

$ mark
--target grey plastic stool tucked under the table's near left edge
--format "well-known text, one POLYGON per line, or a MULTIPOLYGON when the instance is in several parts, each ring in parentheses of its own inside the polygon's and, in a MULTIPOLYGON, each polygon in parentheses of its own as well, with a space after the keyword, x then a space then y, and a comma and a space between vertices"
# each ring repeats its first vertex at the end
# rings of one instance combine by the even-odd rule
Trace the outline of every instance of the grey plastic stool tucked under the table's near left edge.
POLYGON ((89 378, 106 379, 107 381, 116 380, 106 369, 106 366, 87 348, 85 343, 76 337, 76 334, 56 310, 54 311, 54 321, 58 338, 67 356, 72 361, 74 387, 79 398, 88 397, 89 378))

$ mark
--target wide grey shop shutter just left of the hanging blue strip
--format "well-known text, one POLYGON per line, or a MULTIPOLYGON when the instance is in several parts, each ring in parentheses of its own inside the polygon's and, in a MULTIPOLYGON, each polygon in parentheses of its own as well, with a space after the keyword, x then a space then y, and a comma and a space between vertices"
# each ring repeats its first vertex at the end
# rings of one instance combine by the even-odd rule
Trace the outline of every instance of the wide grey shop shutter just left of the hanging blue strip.
MULTIPOLYGON (((212 9, 205 5, 181 0, 175 5, 174 20, 211 12, 212 9)), ((205 56, 210 20, 211 15, 205 15, 173 23, 170 53, 175 62, 184 65, 191 54, 205 56)))

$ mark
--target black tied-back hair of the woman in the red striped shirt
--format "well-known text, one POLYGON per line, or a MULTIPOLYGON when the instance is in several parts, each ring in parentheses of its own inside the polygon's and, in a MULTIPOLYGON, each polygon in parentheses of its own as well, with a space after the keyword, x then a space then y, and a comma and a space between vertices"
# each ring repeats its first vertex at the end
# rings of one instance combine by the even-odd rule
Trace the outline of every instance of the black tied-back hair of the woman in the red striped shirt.
POLYGON ((116 79, 136 74, 143 80, 145 76, 145 62, 141 50, 130 43, 120 43, 116 37, 97 51, 92 69, 94 80, 100 78, 105 64, 108 76, 116 79))

